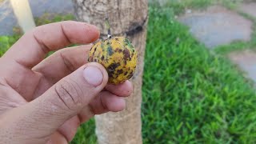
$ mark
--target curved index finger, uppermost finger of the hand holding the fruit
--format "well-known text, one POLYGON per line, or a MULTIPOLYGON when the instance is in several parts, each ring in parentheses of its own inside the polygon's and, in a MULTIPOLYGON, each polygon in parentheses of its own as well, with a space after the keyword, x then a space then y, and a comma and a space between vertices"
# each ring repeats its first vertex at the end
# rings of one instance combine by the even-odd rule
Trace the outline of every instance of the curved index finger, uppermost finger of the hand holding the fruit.
POLYGON ((14 60, 26 67, 33 67, 52 50, 73 44, 87 44, 99 37, 96 26, 84 22, 56 22, 38 26, 24 34, 2 58, 14 60))

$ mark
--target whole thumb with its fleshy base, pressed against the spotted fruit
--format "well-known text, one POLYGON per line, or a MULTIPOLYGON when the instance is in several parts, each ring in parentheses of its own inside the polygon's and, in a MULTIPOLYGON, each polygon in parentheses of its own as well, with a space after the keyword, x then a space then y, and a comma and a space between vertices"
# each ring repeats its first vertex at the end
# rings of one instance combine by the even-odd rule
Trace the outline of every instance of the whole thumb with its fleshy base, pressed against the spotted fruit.
POLYGON ((13 118, 16 126, 26 126, 30 138, 33 138, 32 135, 34 138, 47 137, 87 106, 107 81, 108 74, 102 65, 87 63, 62 78, 33 102, 18 107, 10 114, 17 115, 13 118))

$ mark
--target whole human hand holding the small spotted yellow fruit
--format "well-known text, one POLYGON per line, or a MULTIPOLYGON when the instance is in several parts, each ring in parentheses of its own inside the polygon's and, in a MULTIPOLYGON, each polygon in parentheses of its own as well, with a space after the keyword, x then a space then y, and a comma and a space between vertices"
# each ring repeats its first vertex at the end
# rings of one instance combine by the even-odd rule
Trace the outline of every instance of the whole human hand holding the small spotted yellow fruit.
POLYGON ((0 58, 0 143, 68 143, 94 114, 125 108, 132 84, 108 85, 104 67, 87 62, 91 45, 62 49, 98 37, 83 22, 52 23, 24 34, 0 58))

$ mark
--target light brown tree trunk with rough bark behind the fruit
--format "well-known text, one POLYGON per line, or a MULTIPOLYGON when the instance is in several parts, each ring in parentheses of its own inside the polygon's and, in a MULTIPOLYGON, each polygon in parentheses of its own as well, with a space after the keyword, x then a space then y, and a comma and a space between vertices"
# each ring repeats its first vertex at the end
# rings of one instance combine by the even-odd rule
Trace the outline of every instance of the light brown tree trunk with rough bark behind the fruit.
POLYGON ((142 143, 142 73, 146 46, 147 0, 73 0, 78 21, 89 22, 106 38, 106 15, 112 36, 126 36, 138 50, 138 65, 131 81, 134 94, 126 98, 126 110, 95 116, 98 143, 142 143))

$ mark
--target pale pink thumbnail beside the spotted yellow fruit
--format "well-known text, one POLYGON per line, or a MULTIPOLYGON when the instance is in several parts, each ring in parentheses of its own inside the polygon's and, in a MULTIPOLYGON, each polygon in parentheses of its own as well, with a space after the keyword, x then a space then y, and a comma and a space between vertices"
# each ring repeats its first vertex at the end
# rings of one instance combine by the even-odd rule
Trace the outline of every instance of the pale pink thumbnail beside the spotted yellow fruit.
POLYGON ((96 66, 87 66, 86 69, 83 70, 83 77, 86 79, 86 82, 92 86, 96 87, 102 84, 102 70, 99 70, 96 66))

